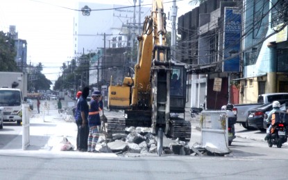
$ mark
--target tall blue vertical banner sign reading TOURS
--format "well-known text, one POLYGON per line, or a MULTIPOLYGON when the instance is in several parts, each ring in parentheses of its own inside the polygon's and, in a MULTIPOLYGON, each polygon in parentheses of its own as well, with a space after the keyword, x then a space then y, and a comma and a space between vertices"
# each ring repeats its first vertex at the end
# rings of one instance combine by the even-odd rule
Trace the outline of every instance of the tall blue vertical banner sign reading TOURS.
POLYGON ((239 8, 224 10, 223 72, 239 72, 241 51, 241 11, 239 8))

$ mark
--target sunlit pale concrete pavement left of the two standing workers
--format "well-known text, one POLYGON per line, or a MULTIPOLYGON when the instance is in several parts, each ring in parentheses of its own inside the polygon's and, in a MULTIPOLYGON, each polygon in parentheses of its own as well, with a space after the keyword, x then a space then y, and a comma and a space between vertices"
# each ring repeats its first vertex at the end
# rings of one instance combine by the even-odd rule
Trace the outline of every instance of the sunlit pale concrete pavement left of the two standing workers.
POLYGON ((53 156, 73 156, 73 157, 91 157, 105 156, 116 157, 114 153, 89 153, 76 151, 77 126, 74 122, 66 122, 58 114, 58 109, 50 102, 50 110, 35 114, 31 111, 30 116, 30 145, 26 150, 22 150, 22 132, 10 143, 0 150, 0 154, 33 154, 42 156, 44 154, 53 156), (63 138, 66 137, 72 145, 74 151, 61 151, 63 138))

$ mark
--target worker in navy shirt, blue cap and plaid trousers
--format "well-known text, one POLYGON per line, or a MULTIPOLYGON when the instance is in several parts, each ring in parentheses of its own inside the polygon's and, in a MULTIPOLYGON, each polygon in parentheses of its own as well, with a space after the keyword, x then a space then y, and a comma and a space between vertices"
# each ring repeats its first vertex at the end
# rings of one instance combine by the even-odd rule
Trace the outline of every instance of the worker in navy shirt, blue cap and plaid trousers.
POLYGON ((96 90, 92 93, 92 100, 90 101, 88 124, 88 149, 87 152, 96 152, 95 147, 99 139, 99 125, 101 125, 99 112, 103 109, 101 101, 101 92, 96 90))

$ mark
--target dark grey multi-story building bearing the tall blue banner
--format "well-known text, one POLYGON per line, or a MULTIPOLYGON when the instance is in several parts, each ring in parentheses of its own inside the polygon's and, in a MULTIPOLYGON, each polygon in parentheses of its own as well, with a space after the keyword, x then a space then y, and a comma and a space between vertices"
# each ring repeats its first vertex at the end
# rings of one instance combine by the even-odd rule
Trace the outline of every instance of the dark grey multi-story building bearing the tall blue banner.
POLYGON ((205 102, 208 109, 220 109, 237 102, 239 90, 230 89, 230 79, 240 72, 241 6, 242 1, 207 0, 178 18, 178 59, 190 64, 191 107, 205 102))

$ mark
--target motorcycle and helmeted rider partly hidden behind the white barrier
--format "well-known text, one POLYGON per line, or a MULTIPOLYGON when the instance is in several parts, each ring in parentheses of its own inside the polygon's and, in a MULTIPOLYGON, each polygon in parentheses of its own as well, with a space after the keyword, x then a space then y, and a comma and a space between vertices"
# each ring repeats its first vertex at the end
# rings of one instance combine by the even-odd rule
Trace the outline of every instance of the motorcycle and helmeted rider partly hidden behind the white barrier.
POLYGON ((232 144, 235 136, 235 123, 237 121, 237 108, 231 104, 224 105, 221 107, 222 111, 227 111, 228 115, 228 145, 232 144))

